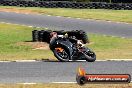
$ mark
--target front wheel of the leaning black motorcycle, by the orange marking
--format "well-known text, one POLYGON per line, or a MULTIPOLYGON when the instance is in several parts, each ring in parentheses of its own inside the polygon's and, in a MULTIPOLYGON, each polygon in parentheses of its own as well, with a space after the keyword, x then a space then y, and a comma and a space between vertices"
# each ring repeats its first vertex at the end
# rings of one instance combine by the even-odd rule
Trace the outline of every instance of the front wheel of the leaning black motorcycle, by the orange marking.
POLYGON ((62 62, 67 62, 69 61, 69 54, 67 52, 66 49, 62 48, 62 47, 56 47, 53 50, 53 53, 55 55, 55 57, 62 62))

